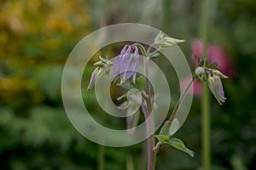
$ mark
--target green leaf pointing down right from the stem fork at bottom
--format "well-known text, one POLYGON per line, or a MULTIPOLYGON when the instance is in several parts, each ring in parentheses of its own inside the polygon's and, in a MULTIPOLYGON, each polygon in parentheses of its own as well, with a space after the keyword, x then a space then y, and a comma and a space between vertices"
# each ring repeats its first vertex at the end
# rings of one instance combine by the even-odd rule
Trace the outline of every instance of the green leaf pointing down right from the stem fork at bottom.
POLYGON ((191 157, 194 157, 195 155, 195 152, 192 150, 189 150, 181 139, 177 139, 177 138, 167 139, 165 141, 165 144, 170 144, 172 145, 172 147, 176 148, 177 150, 182 150, 183 152, 189 154, 189 156, 191 157))

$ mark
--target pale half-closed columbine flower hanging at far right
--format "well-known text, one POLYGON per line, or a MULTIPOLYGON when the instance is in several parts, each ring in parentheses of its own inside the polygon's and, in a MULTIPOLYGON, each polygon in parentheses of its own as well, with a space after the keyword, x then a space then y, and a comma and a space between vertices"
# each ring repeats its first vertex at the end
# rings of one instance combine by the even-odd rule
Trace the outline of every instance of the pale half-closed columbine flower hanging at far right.
POLYGON ((220 77, 212 75, 207 78, 207 84, 219 105, 225 102, 224 89, 220 77))

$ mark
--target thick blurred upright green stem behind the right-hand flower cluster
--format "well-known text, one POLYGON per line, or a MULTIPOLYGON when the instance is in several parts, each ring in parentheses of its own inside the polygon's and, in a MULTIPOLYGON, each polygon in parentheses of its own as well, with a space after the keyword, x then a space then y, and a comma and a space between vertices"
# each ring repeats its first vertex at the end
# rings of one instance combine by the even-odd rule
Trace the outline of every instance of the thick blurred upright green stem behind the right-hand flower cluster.
MULTIPOLYGON (((207 30, 208 30, 208 0, 201 0, 201 40, 203 43, 203 57, 207 56, 207 30)), ((211 169, 211 117, 210 101, 207 83, 203 85, 203 94, 201 98, 201 129, 202 129, 202 161, 203 169, 211 169)))

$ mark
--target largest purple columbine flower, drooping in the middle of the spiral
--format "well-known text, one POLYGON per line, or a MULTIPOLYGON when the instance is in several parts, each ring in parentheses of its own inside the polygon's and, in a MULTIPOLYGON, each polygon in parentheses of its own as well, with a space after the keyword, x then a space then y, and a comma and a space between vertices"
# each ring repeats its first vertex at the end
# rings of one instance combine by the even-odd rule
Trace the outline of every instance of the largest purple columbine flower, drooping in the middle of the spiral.
POLYGON ((121 53, 113 60, 113 77, 111 82, 120 77, 120 83, 127 81, 135 83, 138 61, 138 48, 126 44, 121 53))

